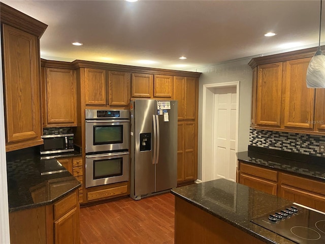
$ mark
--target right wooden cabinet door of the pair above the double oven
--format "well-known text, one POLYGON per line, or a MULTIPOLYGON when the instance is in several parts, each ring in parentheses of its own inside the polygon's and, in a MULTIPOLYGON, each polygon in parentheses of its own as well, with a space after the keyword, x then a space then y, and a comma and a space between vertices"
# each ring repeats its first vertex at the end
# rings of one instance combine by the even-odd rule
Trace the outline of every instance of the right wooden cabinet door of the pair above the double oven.
POLYGON ((130 101, 130 73, 108 72, 109 105, 127 106, 130 101))

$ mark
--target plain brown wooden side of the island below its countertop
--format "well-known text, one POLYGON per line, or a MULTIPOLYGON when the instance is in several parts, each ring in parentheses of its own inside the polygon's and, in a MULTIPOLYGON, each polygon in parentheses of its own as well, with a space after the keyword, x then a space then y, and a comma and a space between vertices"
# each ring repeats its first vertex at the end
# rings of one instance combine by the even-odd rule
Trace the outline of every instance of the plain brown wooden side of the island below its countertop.
POLYGON ((262 244, 262 240, 175 197, 175 244, 262 244))

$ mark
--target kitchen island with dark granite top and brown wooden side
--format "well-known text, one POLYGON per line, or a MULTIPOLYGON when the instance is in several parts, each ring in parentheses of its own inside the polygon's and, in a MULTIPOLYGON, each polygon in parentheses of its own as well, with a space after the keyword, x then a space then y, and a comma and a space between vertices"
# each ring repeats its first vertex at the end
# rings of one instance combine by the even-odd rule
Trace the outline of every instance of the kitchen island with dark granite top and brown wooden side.
POLYGON ((291 201, 225 179, 174 188, 171 193, 175 244, 295 243, 250 222, 291 201))

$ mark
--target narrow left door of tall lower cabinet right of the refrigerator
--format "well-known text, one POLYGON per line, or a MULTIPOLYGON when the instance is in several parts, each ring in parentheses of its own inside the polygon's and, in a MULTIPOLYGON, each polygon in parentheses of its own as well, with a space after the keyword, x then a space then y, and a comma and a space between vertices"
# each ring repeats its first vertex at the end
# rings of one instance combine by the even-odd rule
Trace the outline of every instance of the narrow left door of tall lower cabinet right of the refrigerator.
POLYGON ((184 181, 184 123, 177 125, 177 182, 184 181))

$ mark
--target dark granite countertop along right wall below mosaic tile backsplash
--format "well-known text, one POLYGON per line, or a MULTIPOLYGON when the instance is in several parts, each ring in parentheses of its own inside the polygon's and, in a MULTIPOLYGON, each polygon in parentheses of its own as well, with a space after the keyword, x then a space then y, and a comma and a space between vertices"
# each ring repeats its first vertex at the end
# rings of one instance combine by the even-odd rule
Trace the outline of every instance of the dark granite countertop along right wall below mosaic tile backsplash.
POLYGON ((238 160, 293 172, 325 181, 325 158, 249 146, 237 153, 238 160))

